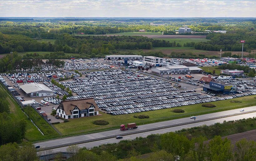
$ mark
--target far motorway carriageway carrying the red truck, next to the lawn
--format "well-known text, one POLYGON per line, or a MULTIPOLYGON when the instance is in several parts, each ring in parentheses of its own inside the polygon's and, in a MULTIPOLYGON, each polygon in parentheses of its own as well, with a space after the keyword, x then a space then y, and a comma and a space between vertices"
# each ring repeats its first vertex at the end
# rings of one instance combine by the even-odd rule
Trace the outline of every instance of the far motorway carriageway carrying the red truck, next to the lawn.
MULTIPOLYGON (((247 107, 247 108, 244 108, 244 112, 253 111, 255 109, 256 109, 256 106, 247 107)), ((209 114, 199 115, 199 116, 196 116, 196 120, 198 121, 198 120, 203 120, 203 119, 208 119, 208 118, 213 118, 213 117, 219 117, 219 116, 240 113, 239 110, 240 109, 234 109, 234 110, 222 111, 222 112, 217 112, 217 113, 209 113, 209 114)), ((252 115, 255 116, 255 113, 253 113, 252 115)), ((175 120, 170 120, 170 121, 140 125, 140 126, 138 126, 137 129, 129 129, 126 131, 120 131, 120 129, 116 129, 116 130, 97 132, 97 133, 85 134, 85 135, 79 135, 79 136, 70 136, 70 137, 65 137, 65 138, 37 142, 34 145, 40 145, 40 148, 48 148, 48 147, 53 147, 53 146, 57 146, 57 145, 68 145, 68 144, 72 144, 72 143, 76 143, 76 142, 80 142, 80 141, 98 139, 98 138, 107 137, 107 136, 113 136, 113 137, 118 136, 118 135, 122 136, 124 134, 128 134, 128 133, 134 132, 134 131, 143 131, 143 130, 148 130, 148 129, 152 129, 152 128, 164 127, 164 126, 175 125, 175 124, 186 123, 186 122, 192 123, 193 121, 194 121, 194 119, 190 119, 190 117, 186 117, 186 118, 180 118, 180 119, 175 119, 175 120)), ((120 122, 120 124, 122 124, 122 122, 120 122)), ((202 124, 203 124, 203 122, 198 123, 196 125, 200 126, 202 124)), ((189 127, 189 125, 184 125, 183 127, 184 128, 189 127)), ((160 131, 165 131, 165 129, 162 129, 160 131)), ((147 133, 150 133, 150 132, 147 132, 147 133)), ((143 136, 143 134, 138 134, 137 136, 143 136)))

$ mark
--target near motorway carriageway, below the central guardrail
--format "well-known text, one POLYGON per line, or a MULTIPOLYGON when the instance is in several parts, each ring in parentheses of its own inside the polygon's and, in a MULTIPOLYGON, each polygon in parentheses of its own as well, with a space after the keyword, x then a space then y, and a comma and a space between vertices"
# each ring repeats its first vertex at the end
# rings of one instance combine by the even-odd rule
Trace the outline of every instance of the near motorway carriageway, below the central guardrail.
MULTIPOLYGON (((255 108, 255 106, 254 106, 254 108, 255 108)), ((155 130, 155 131, 143 132, 143 133, 139 133, 139 134, 127 135, 127 136, 124 136, 123 139, 111 138, 111 139, 106 139, 106 140, 99 140, 99 141, 94 141, 94 142, 89 142, 89 143, 84 143, 84 144, 78 144, 78 146, 80 148, 82 148, 82 147, 92 148, 94 146, 99 146, 99 145, 102 145, 102 144, 118 143, 121 140, 135 139, 136 137, 140 137, 140 136, 141 137, 146 137, 150 134, 163 134, 163 133, 166 133, 166 132, 177 131, 177 130, 184 129, 184 128, 191 128, 191 127, 197 127, 197 126, 202 126, 202 125, 208 125, 209 126, 209 125, 213 125, 217 122, 222 123, 224 120, 225 121, 239 120, 239 119, 255 117, 255 116, 256 116, 256 113, 248 113, 248 114, 226 117, 226 118, 220 118, 220 119, 215 119, 215 120, 210 120, 210 121, 205 121, 205 122, 192 123, 192 124, 178 126, 178 127, 170 127, 170 128, 161 129, 161 130, 155 130)), ((65 152, 67 147, 68 146, 62 147, 62 148, 52 149, 52 150, 49 150, 49 151, 37 152, 37 154, 40 155, 40 154, 47 154, 49 152, 50 153, 65 152)))

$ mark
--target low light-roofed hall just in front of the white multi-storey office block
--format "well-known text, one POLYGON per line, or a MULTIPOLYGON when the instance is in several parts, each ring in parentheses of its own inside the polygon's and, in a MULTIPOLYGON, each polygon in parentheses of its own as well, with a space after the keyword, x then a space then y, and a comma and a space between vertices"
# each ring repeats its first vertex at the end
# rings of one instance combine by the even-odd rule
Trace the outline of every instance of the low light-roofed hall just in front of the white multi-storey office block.
POLYGON ((181 73, 188 73, 189 67, 184 65, 177 65, 177 66, 166 66, 166 67, 155 67, 151 68, 151 72, 154 74, 181 74, 181 73))

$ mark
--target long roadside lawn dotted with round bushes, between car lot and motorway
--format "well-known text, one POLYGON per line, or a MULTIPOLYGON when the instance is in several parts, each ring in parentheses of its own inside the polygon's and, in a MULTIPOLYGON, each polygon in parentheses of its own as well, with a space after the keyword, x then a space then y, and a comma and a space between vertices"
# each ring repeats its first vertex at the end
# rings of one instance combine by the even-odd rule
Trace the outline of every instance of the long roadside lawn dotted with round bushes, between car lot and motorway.
POLYGON ((74 135, 88 132, 96 132, 107 129, 118 129, 121 124, 127 124, 136 122, 137 125, 166 121, 171 119, 177 119, 182 117, 197 116, 206 113, 219 112, 224 110, 230 110, 235 108, 243 108, 256 105, 256 99, 254 95, 236 98, 234 100, 240 100, 242 103, 235 104, 230 103, 230 100, 216 101, 212 104, 215 104, 215 108, 205 108, 202 107, 202 104, 194 104, 188 106, 182 106, 177 108, 168 108, 155 111, 147 111, 141 113, 133 113, 126 115, 117 115, 112 116, 106 113, 100 112, 101 116, 93 117, 81 117, 77 119, 70 119, 69 122, 55 124, 54 126, 62 133, 62 135, 74 135), (173 113, 173 109, 183 109, 185 113, 173 113), (150 118, 139 119, 134 118, 134 115, 148 115, 150 118), (95 120, 106 120, 109 122, 108 125, 95 125, 92 122, 95 120))

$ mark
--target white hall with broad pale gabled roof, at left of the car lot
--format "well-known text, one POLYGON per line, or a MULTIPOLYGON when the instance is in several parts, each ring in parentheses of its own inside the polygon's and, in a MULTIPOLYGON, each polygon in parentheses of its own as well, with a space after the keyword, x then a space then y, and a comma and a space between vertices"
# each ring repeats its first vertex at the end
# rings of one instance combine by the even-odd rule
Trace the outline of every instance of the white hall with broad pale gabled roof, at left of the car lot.
POLYGON ((39 83, 20 85, 20 88, 30 97, 53 96, 53 90, 39 83))

